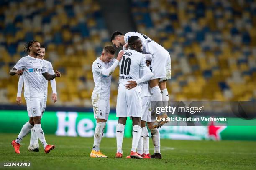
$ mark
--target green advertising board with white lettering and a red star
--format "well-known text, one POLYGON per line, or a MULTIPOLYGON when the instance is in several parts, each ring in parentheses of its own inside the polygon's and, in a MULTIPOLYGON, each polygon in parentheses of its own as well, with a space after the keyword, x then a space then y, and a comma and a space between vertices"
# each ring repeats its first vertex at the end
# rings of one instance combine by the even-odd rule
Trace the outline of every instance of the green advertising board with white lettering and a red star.
MULTIPOLYGON (((234 121, 238 121, 235 120, 234 121)), ((26 111, 0 110, 0 133, 19 133, 28 121, 26 111), (10 126, 12 125, 12 126, 10 126)), ((115 137, 118 123, 116 115, 110 114, 105 128, 105 137, 115 137)), ((58 136, 92 137, 96 121, 92 112, 46 111, 42 118, 44 133, 58 136)), ((161 138, 177 140, 256 140, 256 126, 217 126, 209 122, 205 126, 162 126, 161 138)), ((125 137, 131 137, 132 122, 128 118, 125 137)))

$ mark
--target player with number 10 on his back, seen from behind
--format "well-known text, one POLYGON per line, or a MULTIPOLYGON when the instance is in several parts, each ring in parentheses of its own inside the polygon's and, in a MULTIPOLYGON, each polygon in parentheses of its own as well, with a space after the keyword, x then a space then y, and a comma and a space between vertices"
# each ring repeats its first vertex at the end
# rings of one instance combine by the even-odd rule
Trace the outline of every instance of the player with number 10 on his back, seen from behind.
POLYGON ((142 51, 141 39, 138 36, 131 36, 128 40, 128 50, 124 50, 120 61, 119 87, 116 105, 116 126, 117 152, 116 158, 122 158, 123 135, 127 117, 133 122, 132 148, 129 158, 143 158, 136 150, 141 138, 141 82, 146 82, 153 77, 153 73, 146 66, 146 60, 142 51))

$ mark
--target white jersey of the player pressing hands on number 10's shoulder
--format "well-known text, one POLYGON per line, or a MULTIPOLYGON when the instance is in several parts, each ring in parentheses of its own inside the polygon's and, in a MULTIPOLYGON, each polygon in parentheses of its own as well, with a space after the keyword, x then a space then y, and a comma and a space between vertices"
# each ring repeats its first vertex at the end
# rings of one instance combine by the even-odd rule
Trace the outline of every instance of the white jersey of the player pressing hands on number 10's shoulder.
POLYGON ((109 100, 111 75, 105 76, 101 74, 103 68, 108 69, 115 62, 115 58, 110 60, 109 63, 105 63, 100 58, 97 58, 92 63, 92 74, 94 80, 94 89, 92 92, 92 99, 109 100))

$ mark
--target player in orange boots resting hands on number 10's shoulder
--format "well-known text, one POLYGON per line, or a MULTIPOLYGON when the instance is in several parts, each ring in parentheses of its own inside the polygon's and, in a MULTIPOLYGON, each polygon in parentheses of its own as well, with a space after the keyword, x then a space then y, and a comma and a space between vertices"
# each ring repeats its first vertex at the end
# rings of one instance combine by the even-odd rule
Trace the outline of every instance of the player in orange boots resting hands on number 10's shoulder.
POLYGON ((94 117, 96 119, 96 127, 94 133, 94 143, 90 157, 106 158, 107 156, 100 152, 100 143, 104 133, 105 125, 109 115, 109 97, 111 75, 118 66, 123 56, 123 51, 118 54, 117 59, 113 59, 115 48, 107 45, 102 50, 102 55, 92 64, 93 80, 95 83, 92 92, 92 105, 94 117))

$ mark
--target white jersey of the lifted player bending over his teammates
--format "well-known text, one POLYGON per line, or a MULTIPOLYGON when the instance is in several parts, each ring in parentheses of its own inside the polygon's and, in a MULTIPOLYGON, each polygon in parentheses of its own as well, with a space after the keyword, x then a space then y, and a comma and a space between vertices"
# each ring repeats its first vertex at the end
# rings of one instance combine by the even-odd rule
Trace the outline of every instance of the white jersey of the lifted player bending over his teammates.
POLYGON ((154 40, 151 40, 149 37, 147 37, 144 34, 138 33, 138 32, 127 32, 124 35, 124 41, 125 43, 128 43, 128 39, 131 36, 138 36, 141 39, 142 42, 142 53, 143 54, 151 54, 153 55, 155 52, 159 50, 165 50, 164 47, 156 43, 154 40))

